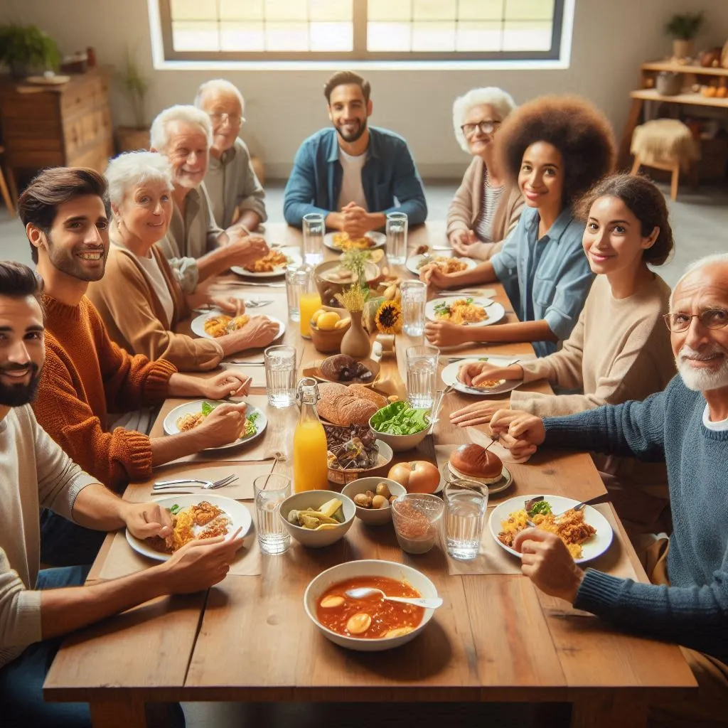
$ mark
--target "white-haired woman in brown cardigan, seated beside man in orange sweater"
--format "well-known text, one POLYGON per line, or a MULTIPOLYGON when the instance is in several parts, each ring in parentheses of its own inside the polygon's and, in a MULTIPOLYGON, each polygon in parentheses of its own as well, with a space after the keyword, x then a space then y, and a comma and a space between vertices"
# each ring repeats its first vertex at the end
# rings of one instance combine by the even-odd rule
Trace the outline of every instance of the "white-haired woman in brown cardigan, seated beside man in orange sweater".
POLYGON ((206 292, 186 296, 155 245, 165 237, 172 217, 173 173, 165 157, 152 151, 122 154, 109 162, 106 179, 111 248, 106 273, 92 282, 87 296, 119 347, 166 359, 181 371, 206 371, 225 356, 275 339, 277 323, 261 316, 214 340, 175 333, 194 306, 211 304, 233 315, 242 314, 245 306, 238 298, 206 292))

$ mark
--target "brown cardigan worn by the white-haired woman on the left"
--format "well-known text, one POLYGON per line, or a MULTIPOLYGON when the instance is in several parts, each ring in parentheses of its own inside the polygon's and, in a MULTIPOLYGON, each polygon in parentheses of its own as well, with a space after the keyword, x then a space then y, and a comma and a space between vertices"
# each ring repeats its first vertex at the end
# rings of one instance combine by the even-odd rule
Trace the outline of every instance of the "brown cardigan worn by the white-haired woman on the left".
POLYGON ((153 247, 159 268, 172 294, 171 321, 136 258, 122 245, 111 245, 103 278, 89 285, 87 296, 98 309, 108 335, 130 354, 166 359, 180 371, 207 371, 224 356, 213 339, 193 339, 175 333, 179 321, 190 314, 185 297, 162 252, 153 247))

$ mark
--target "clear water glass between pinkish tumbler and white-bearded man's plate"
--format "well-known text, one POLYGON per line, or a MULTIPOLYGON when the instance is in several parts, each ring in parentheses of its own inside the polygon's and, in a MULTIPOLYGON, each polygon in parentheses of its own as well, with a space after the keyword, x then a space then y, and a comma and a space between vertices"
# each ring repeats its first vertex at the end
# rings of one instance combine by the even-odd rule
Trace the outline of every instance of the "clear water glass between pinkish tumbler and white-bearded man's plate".
POLYGON ((445 486, 445 547, 452 558, 470 561, 480 551, 486 525, 488 488, 457 478, 445 486))

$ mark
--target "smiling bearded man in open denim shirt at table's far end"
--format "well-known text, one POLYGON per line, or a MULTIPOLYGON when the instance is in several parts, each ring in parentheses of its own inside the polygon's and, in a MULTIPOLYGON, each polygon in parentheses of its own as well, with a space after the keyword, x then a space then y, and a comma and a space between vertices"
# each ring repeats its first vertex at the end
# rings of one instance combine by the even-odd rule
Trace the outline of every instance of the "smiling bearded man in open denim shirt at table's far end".
POLYGON ((320 213, 328 228, 360 237, 384 227, 391 212, 406 213, 411 225, 424 222, 424 188, 407 143, 368 127, 370 92, 369 82, 351 71, 339 71, 325 85, 333 128, 298 149, 283 201, 289 225, 301 227, 304 215, 320 213))

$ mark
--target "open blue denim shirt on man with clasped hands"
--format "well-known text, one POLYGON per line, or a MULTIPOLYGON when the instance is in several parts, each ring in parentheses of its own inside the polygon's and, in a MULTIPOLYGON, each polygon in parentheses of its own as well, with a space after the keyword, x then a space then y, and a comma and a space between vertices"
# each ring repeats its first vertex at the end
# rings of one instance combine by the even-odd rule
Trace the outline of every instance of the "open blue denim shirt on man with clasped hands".
MULTIPOLYGON (((325 217, 338 210, 344 170, 336 137, 333 127, 322 129, 306 139, 296 152, 283 197, 283 215, 289 225, 301 227, 308 213, 325 217)), ((371 213, 407 213, 410 225, 424 223, 427 218, 422 179, 407 143, 394 132, 369 127, 362 186, 371 213)))

